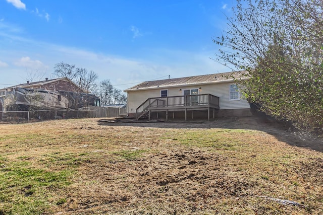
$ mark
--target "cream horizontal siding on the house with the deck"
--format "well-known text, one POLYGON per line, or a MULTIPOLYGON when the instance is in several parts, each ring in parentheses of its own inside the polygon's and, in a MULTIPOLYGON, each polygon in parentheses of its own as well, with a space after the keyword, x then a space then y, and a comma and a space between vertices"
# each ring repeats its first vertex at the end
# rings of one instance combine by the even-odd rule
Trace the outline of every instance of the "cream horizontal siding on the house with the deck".
POLYGON ((231 100, 229 97, 229 86, 233 82, 216 83, 216 84, 199 84, 192 86, 183 86, 175 88, 158 88, 150 90, 138 90, 128 92, 128 113, 135 113, 144 101, 148 98, 161 97, 161 90, 168 90, 168 96, 182 96, 184 90, 199 89, 199 94, 212 94, 220 98, 220 109, 245 109, 250 108, 249 103, 243 99, 240 94, 239 100, 231 100), (181 91, 180 91, 181 90, 181 91))

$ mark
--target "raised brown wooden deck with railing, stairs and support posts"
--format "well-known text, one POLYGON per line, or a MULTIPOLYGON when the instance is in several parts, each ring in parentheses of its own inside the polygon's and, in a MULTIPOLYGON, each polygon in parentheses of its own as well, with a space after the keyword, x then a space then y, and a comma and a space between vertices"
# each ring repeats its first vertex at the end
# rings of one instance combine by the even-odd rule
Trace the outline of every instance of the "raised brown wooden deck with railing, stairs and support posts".
POLYGON ((149 98, 136 109, 136 120, 148 113, 150 120, 151 112, 166 112, 168 120, 169 111, 185 111, 185 120, 187 120, 187 111, 207 110, 207 119, 210 118, 210 111, 220 109, 219 97, 211 94, 189 95, 189 96, 170 96, 149 98))

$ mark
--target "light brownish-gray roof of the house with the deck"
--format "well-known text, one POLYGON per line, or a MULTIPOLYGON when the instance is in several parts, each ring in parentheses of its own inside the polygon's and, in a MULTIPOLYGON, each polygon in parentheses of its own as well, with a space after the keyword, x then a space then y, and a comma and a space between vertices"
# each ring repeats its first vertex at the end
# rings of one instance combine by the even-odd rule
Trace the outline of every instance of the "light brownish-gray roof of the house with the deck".
POLYGON ((184 77, 184 78, 177 78, 177 79, 147 81, 147 82, 142 82, 131 88, 128 88, 125 91, 226 82, 226 81, 233 81, 234 79, 244 79, 246 78, 245 76, 246 74, 247 74, 246 71, 231 71, 228 73, 217 73, 217 74, 191 76, 191 77, 184 77))

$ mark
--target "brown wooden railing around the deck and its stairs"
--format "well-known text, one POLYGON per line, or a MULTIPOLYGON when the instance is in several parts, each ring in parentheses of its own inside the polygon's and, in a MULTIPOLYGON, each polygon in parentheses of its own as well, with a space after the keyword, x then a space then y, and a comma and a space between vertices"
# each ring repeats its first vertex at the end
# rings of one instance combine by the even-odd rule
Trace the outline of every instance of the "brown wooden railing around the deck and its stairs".
POLYGON ((219 97, 211 94, 149 98, 136 109, 136 120, 150 108, 192 107, 209 105, 219 108, 219 97))

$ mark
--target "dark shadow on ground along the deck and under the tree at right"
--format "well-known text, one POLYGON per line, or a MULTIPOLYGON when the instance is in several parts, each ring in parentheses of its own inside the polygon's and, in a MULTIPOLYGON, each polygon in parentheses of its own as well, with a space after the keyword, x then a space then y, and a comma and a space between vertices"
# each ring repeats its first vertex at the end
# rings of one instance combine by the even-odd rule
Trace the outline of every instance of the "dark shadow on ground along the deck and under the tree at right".
POLYGON ((250 117, 223 117, 212 121, 138 121, 138 122, 98 122, 106 126, 134 126, 152 128, 225 128, 225 129, 250 129, 263 131, 275 136, 278 140, 291 146, 306 148, 323 152, 323 138, 307 132, 297 131, 287 127, 282 122, 261 116, 250 117))

